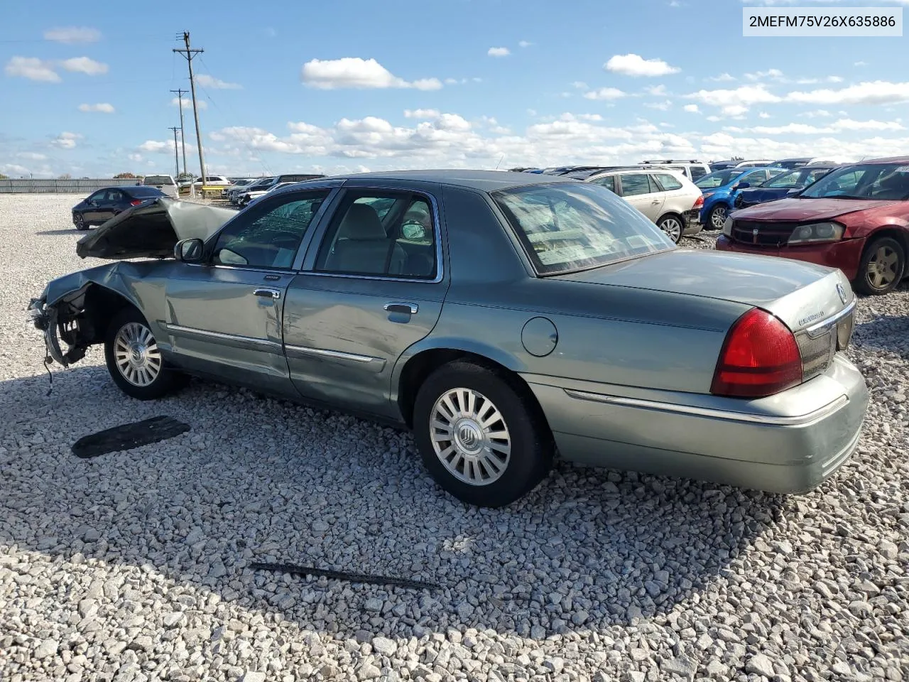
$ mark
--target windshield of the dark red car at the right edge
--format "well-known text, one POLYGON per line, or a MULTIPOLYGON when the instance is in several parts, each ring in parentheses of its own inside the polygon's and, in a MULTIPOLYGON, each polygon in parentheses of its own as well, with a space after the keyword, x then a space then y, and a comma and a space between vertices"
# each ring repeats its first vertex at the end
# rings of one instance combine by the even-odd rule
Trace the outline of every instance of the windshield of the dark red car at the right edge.
POLYGON ((802 192, 807 199, 909 199, 909 165, 859 164, 838 168, 802 192))

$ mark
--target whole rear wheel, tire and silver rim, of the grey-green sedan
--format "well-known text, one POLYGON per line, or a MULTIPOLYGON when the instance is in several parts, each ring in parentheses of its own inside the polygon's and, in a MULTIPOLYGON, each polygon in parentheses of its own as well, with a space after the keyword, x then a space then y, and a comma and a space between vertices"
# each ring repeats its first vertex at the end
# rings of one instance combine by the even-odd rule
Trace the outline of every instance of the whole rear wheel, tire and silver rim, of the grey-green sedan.
POLYGON ((552 466, 553 438, 533 396, 471 362, 441 366, 420 386, 414 434, 436 482, 471 505, 508 505, 552 466))

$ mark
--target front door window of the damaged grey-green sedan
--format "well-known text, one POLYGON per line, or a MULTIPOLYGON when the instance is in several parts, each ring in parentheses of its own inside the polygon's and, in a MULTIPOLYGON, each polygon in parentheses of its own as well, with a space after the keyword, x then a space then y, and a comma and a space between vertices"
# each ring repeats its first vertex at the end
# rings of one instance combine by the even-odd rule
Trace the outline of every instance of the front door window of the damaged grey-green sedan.
POLYGON ((253 206, 218 235, 213 259, 225 266, 286 269, 327 192, 282 196, 253 206))

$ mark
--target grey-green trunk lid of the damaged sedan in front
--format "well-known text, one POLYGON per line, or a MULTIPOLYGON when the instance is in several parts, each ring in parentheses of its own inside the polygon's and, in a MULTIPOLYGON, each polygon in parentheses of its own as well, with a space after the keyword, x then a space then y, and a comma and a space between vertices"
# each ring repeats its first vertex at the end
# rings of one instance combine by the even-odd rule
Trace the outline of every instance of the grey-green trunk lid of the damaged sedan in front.
POLYGON ((760 307, 783 320, 793 332, 836 316, 854 300, 849 281, 834 268, 706 249, 674 249, 556 277, 760 307))

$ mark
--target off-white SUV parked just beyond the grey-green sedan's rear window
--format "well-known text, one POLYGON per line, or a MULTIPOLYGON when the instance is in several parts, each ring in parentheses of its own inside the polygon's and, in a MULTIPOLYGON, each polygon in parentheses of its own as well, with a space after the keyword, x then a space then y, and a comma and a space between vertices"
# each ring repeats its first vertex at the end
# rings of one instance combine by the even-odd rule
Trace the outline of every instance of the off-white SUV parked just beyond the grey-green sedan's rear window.
POLYGON ((701 231, 704 196, 679 171, 661 167, 620 168, 594 174, 586 181, 621 196, 653 220, 676 244, 683 236, 701 231))

